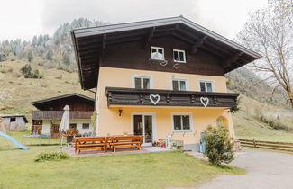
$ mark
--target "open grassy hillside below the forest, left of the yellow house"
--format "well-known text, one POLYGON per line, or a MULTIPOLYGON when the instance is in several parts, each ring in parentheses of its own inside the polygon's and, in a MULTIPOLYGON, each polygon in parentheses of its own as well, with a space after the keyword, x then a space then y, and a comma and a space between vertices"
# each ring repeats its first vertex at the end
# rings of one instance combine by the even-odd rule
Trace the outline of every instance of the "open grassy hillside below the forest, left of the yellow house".
POLYGON ((78 93, 94 97, 93 93, 81 90, 78 73, 69 73, 57 68, 46 68, 32 64, 43 78, 24 78, 20 69, 27 61, 15 60, 0 62, 0 113, 22 113, 31 120, 33 101, 62 94, 78 93))

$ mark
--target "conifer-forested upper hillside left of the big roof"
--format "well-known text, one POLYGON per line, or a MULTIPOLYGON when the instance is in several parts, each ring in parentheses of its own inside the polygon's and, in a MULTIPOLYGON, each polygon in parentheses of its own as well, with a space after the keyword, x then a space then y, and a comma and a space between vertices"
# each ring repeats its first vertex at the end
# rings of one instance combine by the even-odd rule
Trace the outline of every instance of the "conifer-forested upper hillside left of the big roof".
POLYGON ((67 71, 75 71, 76 64, 69 31, 82 27, 105 25, 100 21, 85 18, 63 23, 52 36, 43 34, 34 36, 32 40, 21 39, 0 41, 0 62, 5 60, 27 60, 38 65, 52 68, 58 67, 67 71))

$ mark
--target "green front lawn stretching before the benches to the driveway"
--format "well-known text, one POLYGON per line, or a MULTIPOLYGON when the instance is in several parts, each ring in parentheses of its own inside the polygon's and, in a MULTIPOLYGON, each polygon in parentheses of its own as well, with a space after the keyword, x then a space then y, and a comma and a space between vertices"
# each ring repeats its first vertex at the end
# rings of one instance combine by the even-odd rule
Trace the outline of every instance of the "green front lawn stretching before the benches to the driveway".
POLYGON ((187 154, 143 154, 33 160, 40 152, 59 147, 0 152, 0 188, 165 188, 191 187, 217 174, 243 174, 230 166, 211 166, 187 154))

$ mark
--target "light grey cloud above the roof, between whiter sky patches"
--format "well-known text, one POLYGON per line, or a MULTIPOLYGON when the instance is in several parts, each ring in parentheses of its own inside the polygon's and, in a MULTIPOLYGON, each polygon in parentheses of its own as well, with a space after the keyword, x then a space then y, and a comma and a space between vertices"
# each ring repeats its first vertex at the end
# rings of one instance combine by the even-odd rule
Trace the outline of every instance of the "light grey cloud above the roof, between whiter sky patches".
POLYGON ((41 15, 43 27, 56 29, 61 23, 86 17, 110 23, 125 23, 184 14, 197 17, 194 0, 50 0, 41 15))

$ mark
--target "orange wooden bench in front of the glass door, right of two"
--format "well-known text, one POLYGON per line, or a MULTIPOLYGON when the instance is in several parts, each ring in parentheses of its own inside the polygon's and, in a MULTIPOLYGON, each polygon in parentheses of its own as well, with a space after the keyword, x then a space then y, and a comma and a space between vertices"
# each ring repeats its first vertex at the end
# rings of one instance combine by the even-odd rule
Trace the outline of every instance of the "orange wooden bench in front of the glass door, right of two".
POLYGON ((116 151, 116 148, 137 148, 142 149, 142 136, 125 136, 108 138, 109 145, 116 151))

